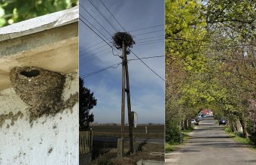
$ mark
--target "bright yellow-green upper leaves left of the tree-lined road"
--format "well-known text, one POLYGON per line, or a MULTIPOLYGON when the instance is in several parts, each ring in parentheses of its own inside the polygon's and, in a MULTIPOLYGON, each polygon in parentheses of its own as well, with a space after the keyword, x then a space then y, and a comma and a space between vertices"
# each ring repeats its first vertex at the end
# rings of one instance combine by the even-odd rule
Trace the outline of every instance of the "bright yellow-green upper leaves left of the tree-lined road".
POLYGON ((200 1, 166 0, 166 63, 183 60, 187 71, 200 71, 205 58, 199 53, 206 34, 200 1))

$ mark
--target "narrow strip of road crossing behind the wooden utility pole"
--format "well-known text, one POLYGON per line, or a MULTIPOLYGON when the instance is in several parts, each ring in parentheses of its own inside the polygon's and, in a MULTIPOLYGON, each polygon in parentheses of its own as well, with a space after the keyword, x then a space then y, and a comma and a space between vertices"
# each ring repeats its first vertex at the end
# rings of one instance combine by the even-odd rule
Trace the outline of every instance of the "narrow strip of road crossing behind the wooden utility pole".
MULTIPOLYGON (((94 142, 117 142, 117 137, 93 136, 94 142)), ((124 138, 124 142, 129 142, 129 138, 124 138)), ((136 138, 136 142, 147 144, 164 144, 164 139, 136 138)))

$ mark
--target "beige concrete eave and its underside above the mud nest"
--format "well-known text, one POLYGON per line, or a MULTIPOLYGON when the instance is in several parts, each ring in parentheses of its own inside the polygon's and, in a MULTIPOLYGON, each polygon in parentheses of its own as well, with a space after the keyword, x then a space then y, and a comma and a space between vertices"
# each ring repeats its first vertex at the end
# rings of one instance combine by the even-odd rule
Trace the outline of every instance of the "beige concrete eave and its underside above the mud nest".
POLYGON ((0 91, 11 87, 9 73, 17 66, 38 67, 61 74, 78 69, 78 22, 63 25, 63 20, 59 21, 58 26, 50 29, 41 28, 44 31, 0 41, 0 91))

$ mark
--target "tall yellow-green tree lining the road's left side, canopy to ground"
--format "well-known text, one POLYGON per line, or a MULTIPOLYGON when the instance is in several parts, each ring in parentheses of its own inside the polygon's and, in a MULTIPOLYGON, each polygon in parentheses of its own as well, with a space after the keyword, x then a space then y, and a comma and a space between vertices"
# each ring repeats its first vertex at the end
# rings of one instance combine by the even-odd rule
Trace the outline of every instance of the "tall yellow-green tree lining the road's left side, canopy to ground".
POLYGON ((200 1, 166 0, 166 139, 178 142, 179 133, 190 125, 197 110, 188 99, 185 86, 191 73, 204 70, 206 59, 200 53, 206 22, 200 1))

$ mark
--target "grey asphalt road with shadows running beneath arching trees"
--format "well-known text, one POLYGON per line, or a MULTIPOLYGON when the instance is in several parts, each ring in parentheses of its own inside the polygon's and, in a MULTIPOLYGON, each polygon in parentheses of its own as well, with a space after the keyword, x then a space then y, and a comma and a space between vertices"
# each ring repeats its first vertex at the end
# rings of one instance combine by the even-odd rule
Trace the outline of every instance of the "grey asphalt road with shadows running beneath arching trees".
POLYGON ((256 164, 256 151, 233 141, 222 127, 212 119, 201 121, 181 149, 166 154, 166 164, 256 164))

